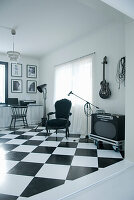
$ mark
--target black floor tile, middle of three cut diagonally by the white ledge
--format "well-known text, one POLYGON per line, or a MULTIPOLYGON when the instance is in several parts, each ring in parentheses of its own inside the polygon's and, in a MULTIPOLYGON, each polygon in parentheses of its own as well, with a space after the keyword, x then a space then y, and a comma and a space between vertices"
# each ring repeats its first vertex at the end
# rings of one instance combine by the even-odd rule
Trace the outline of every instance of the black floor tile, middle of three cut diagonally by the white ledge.
POLYGON ((88 175, 97 170, 98 170, 98 168, 94 168, 94 167, 71 166, 66 179, 67 180, 75 180, 77 178, 88 175))

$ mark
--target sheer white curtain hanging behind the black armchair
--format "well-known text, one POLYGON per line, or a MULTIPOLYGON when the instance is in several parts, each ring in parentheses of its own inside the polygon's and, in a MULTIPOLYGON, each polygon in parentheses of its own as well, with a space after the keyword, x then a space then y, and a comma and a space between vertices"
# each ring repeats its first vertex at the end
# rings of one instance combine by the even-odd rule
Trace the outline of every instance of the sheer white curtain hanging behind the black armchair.
MULTIPOLYGON (((86 134, 84 102, 74 95, 92 102, 92 56, 86 56, 55 67, 54 102, 68 98, 72 101, 70 132, 86 134)), ((90 128, 90 127, 89 127, 90 128)))

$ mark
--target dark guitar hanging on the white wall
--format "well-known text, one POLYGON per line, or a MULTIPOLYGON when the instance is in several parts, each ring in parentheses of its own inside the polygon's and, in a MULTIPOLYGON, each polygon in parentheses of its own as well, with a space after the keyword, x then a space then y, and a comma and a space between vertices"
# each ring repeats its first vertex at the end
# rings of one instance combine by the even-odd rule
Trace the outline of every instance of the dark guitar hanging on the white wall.
POLYGON ((105 80, 105 65, 107 64, 107 57, 105 56, 103 58, 103 81, 101 81, 100 85, 101 85, 101 89, 99 92, 99 95, 102 99, 107 99, 111 96, 111 91, 109 89, 109 83, 106 82, 105 80))

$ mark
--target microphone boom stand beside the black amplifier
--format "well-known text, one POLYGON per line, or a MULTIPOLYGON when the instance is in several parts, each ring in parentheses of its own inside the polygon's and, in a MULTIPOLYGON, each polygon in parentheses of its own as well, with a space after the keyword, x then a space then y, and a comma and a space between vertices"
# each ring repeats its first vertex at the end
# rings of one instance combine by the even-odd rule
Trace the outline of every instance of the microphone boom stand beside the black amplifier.
POLYGON ((70 96, 70 94, 72 94, 72 95, 74 95, 74 96, 78 97, 79 99, 86 102, 85 105, 84 105, 84 112, 85 112, 85 115, 87 116, 87 135, 86 135, 86 138, 88 139, 89 138, 89 136, 88 136, 88 117, 92 114, 91 106, 93 106, 97 109, 99 109, 99 107, 97 107, 97 106, 93 105, 92 103, 88 102, 87 100, 79 97, 78 95, 74 94, 72 91, 69 92, 68 96, 70 96))

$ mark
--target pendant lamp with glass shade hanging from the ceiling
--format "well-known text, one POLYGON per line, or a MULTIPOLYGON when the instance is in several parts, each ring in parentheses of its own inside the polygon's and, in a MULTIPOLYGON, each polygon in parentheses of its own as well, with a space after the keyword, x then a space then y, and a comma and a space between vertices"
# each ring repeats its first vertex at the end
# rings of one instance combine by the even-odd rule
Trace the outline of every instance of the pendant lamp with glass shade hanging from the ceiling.
POLYGON ((8 51, 7 55, 8 55, 11 62, 17 62, 20 58, 20 53, 17 52, 17 51, 14 51, 14 36, 16 35, 15 29, 11 29, 11 34, 13 36, 13 50, 8 51))

